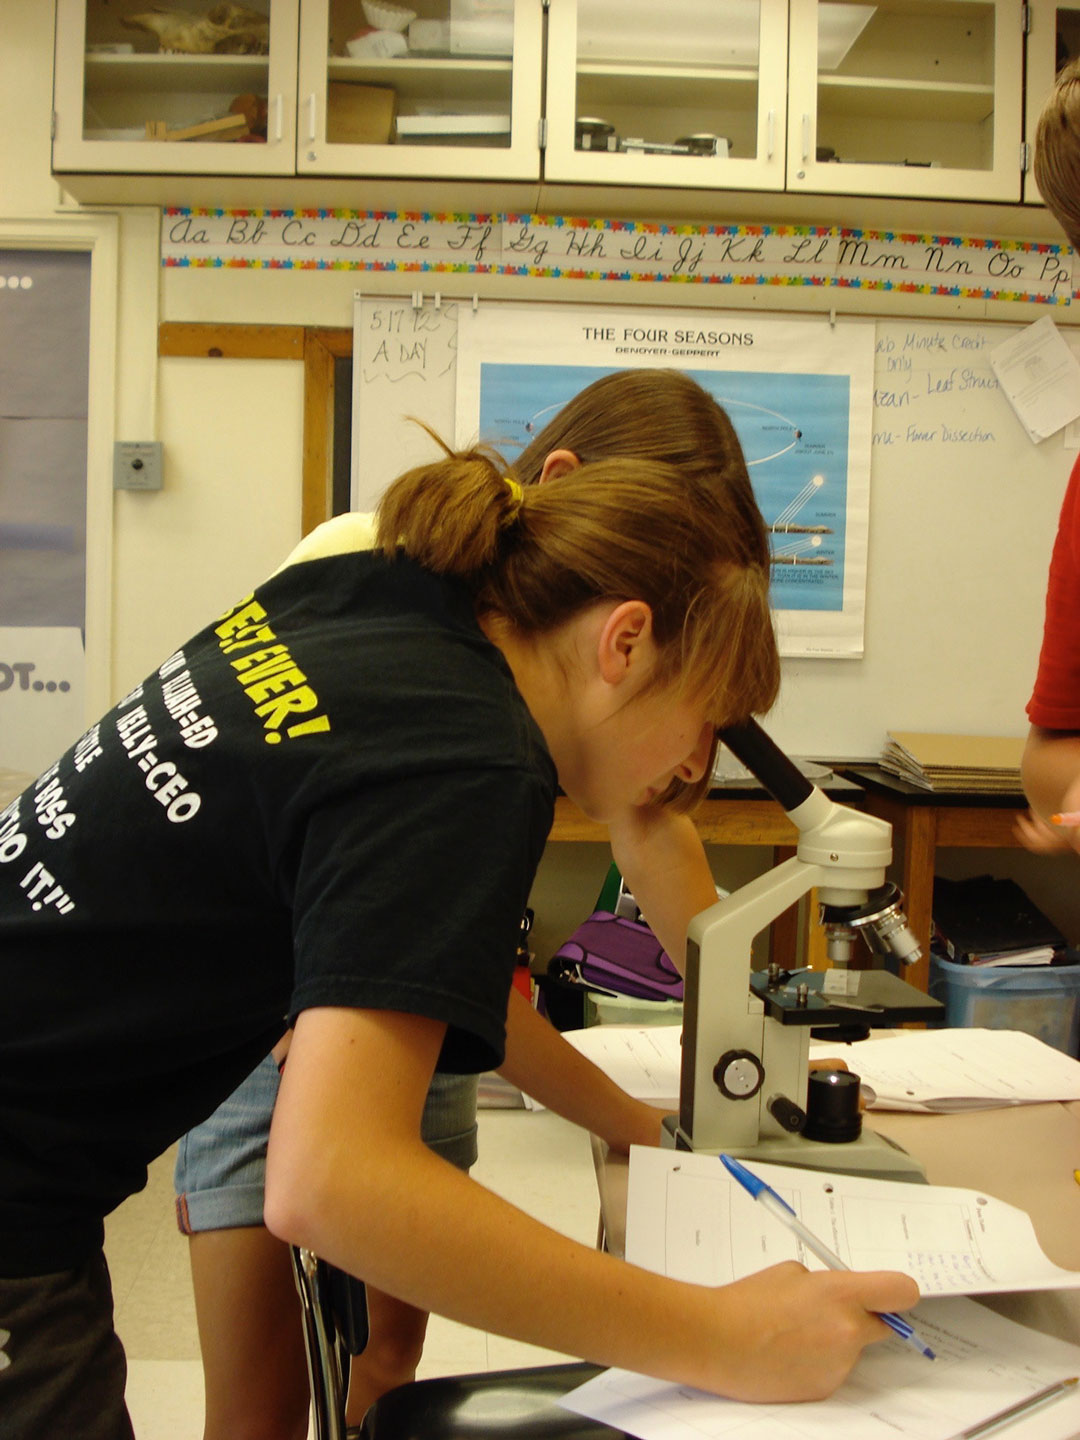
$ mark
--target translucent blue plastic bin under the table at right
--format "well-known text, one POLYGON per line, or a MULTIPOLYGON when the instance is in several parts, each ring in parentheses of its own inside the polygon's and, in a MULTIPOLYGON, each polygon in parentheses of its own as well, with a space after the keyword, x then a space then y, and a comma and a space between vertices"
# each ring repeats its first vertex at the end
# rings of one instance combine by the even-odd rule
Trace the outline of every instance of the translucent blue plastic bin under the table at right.
POLYGON ((930 994, 945 1002, 946 1025, 1022 1030, 1067 1056, 1080 1054, 1080 965, 982 969, 932 953, 930 994))

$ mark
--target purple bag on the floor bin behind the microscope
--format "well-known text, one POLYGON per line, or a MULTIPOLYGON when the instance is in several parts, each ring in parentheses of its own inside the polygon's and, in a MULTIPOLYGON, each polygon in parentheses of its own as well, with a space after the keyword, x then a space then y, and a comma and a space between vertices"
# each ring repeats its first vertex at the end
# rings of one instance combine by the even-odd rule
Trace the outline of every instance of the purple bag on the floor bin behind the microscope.
POLYGON ((552 956, 547 973, 586 989, 635 999, 683 999, 683 976, 652 930, 595 910, 552 956))

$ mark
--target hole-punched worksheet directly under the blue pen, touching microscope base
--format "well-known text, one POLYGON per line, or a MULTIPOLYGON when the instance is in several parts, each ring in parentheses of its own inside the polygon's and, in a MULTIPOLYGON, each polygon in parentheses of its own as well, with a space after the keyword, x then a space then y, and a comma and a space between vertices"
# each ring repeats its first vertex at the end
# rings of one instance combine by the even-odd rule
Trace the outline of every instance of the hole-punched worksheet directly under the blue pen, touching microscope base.
MULTIPOLYGON (((750 1165, 852 1270, 903 1270, 927 1295, 1080 1289, 1043 1253, 1025 1211, 973 1189, 750 1165)), ((626 1259, 697 1284, 780 1260, 825 1269, 714 1155, 631 1148, 626 1259)))

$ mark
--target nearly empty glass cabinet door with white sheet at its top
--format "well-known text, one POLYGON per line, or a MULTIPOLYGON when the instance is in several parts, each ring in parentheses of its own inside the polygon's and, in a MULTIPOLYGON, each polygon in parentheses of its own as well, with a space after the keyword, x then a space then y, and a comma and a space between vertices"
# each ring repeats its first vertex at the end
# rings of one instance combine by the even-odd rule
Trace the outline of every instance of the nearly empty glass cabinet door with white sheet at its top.
POLYGON ((1021 197, 1017 0, 791 0, 788 190, 1021 197))

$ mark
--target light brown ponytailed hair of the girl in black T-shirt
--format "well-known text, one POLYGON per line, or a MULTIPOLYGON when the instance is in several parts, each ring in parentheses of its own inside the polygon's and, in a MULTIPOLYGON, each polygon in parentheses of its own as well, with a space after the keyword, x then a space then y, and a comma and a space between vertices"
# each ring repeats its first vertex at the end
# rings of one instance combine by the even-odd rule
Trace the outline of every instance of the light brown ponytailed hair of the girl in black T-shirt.
MULTIPOLYGON (((776 698, 769 547, 740 451, 723 475, 616 456, 520 495, 494 452, 446 451, 389 487, 377 543, 456 576, 480 613, 526 636, 599 600, 645 600, 655 684, 701 697, 716 726, 776 698)), ((662 799, 687 808, 706 788, 674 785, 662 799)))

